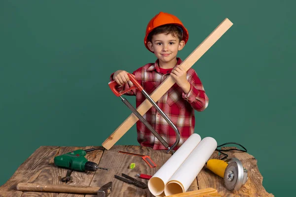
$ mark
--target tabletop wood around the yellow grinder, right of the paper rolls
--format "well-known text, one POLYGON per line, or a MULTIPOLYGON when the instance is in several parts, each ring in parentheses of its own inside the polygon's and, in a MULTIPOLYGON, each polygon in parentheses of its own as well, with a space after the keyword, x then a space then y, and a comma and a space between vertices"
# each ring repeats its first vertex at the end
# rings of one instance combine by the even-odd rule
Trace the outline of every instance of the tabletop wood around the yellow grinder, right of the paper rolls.
MULTIPOLYGON (((224 147, 222 149, 230 148, 235 147, 224 147)), ((274 195, 267 193, 262 186, 263 177, 259 172, 257 160, 252 155, 239 151, 230 151, 226 152, 226 154, 228 154, 228 158, 239 159, 243 166, 248 170, 249 180, 246 182, 246 184, 243 185, 239 191, 228 191, 224 187, 223 179, 221 177, 214 174, 210 170, 203 168, 197 176, 199 189, 212 187, 217 189, 218 193, 223 197, 274 197, 274 195)), ((218 152, 215 151, 211 158, 219 159, 218 152)))

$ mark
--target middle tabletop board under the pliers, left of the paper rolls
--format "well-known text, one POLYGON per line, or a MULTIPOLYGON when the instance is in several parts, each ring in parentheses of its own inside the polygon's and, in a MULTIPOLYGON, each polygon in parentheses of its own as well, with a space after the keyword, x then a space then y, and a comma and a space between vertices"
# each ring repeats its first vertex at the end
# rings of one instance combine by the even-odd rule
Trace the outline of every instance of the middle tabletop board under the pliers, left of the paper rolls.
MULTIPOLYGON (((127 184, 114 178, 114 175, 121 176, 121 173, 125 173, 131 177, 135 177, 137 173, 153 175, 170 157, 171 154, 167 154, 165 151, 155 151, 149 147, 113 146, 110 150, 104 152, 100 162, 100 165, 108 166, 109 171, 100 171, 96 173, 90 186, 102 187, 104 184, 112 181, 113 191, 111 192, 110 197, 153 197, 148 188, 141 189, 134 185, 127 184), (118 153, 118 151, 148 155, 155 162, 157 167, 150 168, 141 157, 118 153), (131 163, 136 164, 134 169, 128 168, 131 163)), ((137 179, 148 184, 148 180, 137 179)), ((85 195, 85 197, 95 196, 85 195)))

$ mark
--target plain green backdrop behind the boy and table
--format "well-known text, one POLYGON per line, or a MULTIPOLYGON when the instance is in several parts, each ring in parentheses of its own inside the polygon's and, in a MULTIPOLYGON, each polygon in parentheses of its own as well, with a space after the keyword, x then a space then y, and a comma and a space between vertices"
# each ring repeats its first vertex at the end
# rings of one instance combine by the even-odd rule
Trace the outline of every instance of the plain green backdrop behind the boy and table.
MULTIPOLYGON (((99 146, 128 117, 109 76, 155 61, 143 39, 164 11, 189 31, 183 60, 225 18, 233 22, 193 66, 210 99, 196 112, 195 132, 241 143, 258 160, 266 191, 292 194, 295 7, 294 0, 1 0, 0 185, 39 146, 99 146)), ((135 126, 116 144, 138 145, 135 126)))

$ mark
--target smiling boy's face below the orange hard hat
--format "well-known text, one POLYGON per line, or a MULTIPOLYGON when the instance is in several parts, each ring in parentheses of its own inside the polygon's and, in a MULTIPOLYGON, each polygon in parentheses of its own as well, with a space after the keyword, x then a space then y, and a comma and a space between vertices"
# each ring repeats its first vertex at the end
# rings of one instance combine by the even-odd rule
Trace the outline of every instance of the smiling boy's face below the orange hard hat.
POLYGON ((169 63, 175 60, 178 51, 182 50, 185 42, 180 41, 172 33, 159 33, 152 36, 152 42, 148 42, 149 49, 154 52, 160 62, 169 63))

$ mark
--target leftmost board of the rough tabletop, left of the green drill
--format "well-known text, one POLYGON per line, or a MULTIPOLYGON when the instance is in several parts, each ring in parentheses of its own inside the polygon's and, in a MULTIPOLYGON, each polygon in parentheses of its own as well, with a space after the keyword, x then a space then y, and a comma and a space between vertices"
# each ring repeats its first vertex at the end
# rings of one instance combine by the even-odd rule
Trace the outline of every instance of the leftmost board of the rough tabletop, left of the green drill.
POLYGON ((21 197, 23 192, 16 190, 20 182, 34 181, 40 172, 50 168, 48 161, 59 151, 57 146, 39 147, 23 164, 21 164, 12 177, 0 187, 0 197, 21 197))

